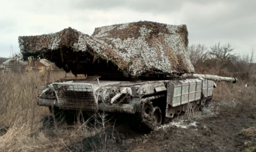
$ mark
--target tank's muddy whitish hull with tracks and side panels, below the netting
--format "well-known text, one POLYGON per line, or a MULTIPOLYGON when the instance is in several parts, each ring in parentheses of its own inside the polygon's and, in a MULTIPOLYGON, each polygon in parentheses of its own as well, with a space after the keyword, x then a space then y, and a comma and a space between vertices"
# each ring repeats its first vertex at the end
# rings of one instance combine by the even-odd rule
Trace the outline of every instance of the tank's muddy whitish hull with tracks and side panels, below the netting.
POLYGON ((63 110, 130 114, 135 124, 153 130, 187 110, 203 109, 213 95, 214 82, 204 79, 140 83, 86 81, 52 83, 38 105, 63 110))

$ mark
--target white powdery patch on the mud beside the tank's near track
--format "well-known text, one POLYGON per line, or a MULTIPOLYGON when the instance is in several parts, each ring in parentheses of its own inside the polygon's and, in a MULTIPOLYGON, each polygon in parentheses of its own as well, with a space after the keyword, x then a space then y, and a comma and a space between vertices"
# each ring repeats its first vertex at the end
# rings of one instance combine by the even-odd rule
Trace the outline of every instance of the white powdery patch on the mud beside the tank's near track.
POLYGON ((170 127, 173 127, 173 126, 176 126, 178 128, 188 129, 189 126, 196 127, 196 123, 197 123, 196 121, 175 120, 175 121, 172 121, 168 124, 161 125, 160 127, 158 127, 158 129, 161 129, 161 128, 162 129, 167 129, 167 128, 170 128, 170 127))

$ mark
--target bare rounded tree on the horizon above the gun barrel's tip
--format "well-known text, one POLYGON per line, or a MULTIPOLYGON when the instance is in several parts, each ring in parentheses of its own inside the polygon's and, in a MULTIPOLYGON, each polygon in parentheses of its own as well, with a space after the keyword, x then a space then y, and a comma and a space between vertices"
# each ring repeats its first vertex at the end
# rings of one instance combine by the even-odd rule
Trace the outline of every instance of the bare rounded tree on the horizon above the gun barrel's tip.
POLYGON ((217 60, 230 60, 236 61, 238 58, 238 54, 234 53, 235 48, 231 48, 232 46, 228 43, 223 46, 220 46, 220 42, 211 46, 211 50, 209 52, 211 58, 217 60))

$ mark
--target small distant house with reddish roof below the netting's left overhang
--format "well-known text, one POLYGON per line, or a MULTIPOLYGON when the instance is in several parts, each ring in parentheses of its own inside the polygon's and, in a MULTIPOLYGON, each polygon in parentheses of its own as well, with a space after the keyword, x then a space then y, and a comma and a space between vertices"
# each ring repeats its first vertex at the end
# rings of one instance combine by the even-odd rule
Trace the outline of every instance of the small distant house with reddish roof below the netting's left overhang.
POLYGON ((39 72, 46 72, 47 70, 52 70, 51 63, 47 60, 40 59, 39 61, 29 61, 26 66, 26 72, 31 72, 32 70, 39 71, 39 72))

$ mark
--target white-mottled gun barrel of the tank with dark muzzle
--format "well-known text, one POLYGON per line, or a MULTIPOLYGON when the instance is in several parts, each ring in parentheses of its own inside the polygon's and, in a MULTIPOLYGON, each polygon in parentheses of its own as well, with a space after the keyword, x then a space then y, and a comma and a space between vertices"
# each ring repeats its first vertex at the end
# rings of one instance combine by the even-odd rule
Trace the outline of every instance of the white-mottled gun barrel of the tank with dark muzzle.
POLYGON ((212 80, 212 81, 225 81, 225 82, 232 82, 236 83, 238 80, 237 78, 234 77, 224 77, 224 76, 215 76, 215 75, 201 75, 201 74, 184 74, 181 76, 182 78, 204 78, 207 80, 212 80))

